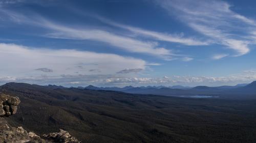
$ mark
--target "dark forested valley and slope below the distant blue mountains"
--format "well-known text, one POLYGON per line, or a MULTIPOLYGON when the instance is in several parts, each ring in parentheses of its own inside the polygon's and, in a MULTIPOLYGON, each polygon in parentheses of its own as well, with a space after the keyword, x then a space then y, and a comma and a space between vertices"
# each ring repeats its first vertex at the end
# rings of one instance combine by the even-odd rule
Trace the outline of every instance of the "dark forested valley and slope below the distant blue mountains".
POLYGON ((256 140, 253 98, 178 98, 25 83, 7 83, 1 91, 21 101, 9 124, 37 134, 61 128, 82 142, 256 140))

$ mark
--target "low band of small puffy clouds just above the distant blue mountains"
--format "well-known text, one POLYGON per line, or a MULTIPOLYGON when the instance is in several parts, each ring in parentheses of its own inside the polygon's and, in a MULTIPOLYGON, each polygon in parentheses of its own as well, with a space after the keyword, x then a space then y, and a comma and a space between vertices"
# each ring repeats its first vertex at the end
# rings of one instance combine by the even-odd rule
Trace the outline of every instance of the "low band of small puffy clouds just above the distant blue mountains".
POLYGON ((249 70, 243 73, 226 77, 193 77, 193 76, 164 76, 162 78, 135 78, 135 77, 111 77, 94 81, 106 85, 235 85, 238 83, 250 83, 256 80, 256 71, 249 70))

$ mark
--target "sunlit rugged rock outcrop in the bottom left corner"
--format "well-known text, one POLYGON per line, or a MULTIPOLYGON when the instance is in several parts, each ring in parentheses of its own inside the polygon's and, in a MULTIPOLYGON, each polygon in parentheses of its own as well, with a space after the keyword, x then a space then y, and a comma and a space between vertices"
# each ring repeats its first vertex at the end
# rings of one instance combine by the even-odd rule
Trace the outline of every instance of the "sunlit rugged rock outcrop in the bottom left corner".
POLYGON ((28 132, 23 127, 10 127, 4 116, 17 112, 20 100, 18 97, 0 94, 0 142, 4 143, 80 143, 67 131, 60 129, 58 133, 44 134, 41 137, 34 132, 28 132))

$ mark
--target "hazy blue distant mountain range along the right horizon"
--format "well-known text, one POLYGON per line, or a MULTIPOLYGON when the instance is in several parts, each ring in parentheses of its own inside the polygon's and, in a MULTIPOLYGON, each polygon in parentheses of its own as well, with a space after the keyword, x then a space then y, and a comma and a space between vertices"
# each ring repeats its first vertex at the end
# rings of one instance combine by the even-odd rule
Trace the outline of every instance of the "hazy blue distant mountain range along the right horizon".
MULTIPOLYGON (((80 87, 81 88, 81 87, 80 87)), ((91 90, 113 90, 113 91, 122 91, 126 93, 138 93, 138 94, 156 94, 162 96, 196 96, 196 95, 210 95, 210 96, 227 96, 230 94, 256 94, 256 81, 250 84, 238 84, 236 86, 217 86, 217 87, 208 87, 208 86, 196 86, 196 87, 187 87, 187 86, 125 86, 120 87, 96 87, 89 85, 84 87, 84 89, 91 90)))

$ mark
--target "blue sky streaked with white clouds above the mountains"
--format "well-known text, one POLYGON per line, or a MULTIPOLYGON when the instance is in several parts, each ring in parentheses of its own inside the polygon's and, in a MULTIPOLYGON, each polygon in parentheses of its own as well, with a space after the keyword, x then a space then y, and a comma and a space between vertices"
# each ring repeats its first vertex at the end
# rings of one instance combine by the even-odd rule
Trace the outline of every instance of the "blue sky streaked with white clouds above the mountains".
POLYGON ((0 84, 256 80, 256 1, 0 0, 0 84))

